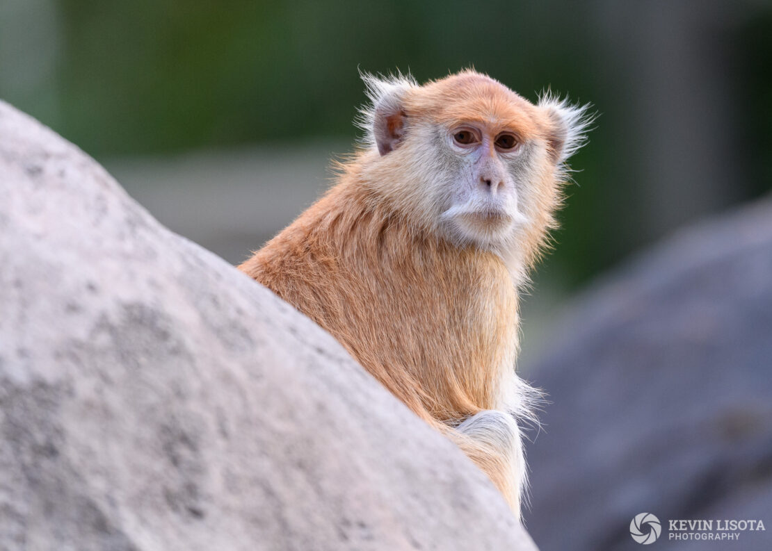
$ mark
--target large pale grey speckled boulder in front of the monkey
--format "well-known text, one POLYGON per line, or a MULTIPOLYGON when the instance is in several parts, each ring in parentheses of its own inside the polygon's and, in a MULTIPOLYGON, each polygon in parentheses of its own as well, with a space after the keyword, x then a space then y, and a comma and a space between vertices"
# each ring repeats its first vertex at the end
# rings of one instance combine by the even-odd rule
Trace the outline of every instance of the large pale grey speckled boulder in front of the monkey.
POLYGON ((0 103, 0 549, 535 549, 327 333, 0 103))

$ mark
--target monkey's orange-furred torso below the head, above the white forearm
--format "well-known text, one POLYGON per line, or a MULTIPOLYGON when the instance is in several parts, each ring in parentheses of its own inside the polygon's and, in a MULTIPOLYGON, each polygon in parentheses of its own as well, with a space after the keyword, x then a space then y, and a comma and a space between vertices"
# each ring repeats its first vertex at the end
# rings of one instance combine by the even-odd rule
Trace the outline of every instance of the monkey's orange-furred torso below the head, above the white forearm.
POLYGON ((240 269, 336 336, 423 417, 493 409, 489 367, 516 332, 506 267, 493 252, 415 232, 375 199, 356 181, 339 184, 240 269))

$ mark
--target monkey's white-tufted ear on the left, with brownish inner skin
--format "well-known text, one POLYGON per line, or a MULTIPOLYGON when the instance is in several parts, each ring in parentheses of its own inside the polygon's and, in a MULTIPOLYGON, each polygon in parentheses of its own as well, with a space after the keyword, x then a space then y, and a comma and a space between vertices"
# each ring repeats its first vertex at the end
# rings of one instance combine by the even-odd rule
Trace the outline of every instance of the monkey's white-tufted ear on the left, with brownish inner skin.
POLYGON ((405 139, 405 124, 408 118, 403 106, 405 93, 418 86, 412 76, 387 76, 378 78, 369 73, 360 73, 367 86, 367 97, 371 106, 360 110, 359 126, 366 133, 367 143, 378 147, 378 153, 388 154, 399 147, 405 139))

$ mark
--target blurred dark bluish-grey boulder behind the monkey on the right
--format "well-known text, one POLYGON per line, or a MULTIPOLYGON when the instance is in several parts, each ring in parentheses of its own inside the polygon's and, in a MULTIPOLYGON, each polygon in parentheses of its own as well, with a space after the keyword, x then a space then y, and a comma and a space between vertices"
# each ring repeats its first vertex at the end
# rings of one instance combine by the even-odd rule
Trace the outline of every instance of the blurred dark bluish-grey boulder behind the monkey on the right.
POLYGON ((640 512, 763 519, 772 548, 772 200, 676 235, 604 281, 530 366, 549 393, 528 450, 542 549, 636 549, 640 512))

